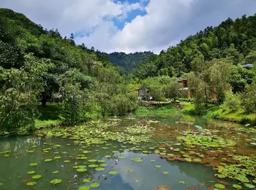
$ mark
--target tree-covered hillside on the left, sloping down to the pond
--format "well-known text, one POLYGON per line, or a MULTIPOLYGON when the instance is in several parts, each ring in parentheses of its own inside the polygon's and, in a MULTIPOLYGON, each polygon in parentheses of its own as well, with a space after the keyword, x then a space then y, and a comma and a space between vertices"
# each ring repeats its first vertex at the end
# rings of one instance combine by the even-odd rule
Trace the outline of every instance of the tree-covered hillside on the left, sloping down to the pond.
POLYGON ((44 30, 21 13, 0 9, 0 130, 33 128, 39 101, 63 101, 60 118, 71 123, 127 113, 128 93, 119 69, 106 57, 75 45, 73 34, 44 30))

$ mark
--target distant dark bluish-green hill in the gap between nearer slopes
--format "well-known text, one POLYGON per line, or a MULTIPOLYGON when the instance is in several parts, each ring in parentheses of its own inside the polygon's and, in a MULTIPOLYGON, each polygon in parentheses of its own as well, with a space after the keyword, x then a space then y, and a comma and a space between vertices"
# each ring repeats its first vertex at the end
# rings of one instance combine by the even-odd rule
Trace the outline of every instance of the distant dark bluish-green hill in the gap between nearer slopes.
POLYGON ((124 52, 112 52, 108 57, 113 64, 119 65, 127 73, 132 73, 139 63, 148 60, 151 55, 154 55, 154 53, 134 52, 126 54, 124 52))

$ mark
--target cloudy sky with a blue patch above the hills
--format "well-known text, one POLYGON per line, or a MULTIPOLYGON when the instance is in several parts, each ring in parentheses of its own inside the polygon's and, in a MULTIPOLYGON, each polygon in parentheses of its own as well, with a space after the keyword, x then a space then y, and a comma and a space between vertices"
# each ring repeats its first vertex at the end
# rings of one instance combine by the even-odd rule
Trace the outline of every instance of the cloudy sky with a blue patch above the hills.
POLYGON ((228 17, 256 13, 255 0, 0 0, 0 7, 105 52, 159 53, 228 17))

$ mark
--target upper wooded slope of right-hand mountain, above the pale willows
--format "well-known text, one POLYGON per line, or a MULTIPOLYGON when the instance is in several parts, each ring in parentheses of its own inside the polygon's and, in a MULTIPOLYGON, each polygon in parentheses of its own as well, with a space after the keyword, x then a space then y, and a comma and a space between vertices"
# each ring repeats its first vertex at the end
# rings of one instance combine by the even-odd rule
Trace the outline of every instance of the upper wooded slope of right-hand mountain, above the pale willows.
POLYGON ((227 58, 233 65, 256 63, 256 14, 233 21, 228 18, 217 27, 209 26, 190 35, 175 47, 162 50, 154 60, 136 69, 140 78, 157 75, 181 76, 193 70, 198 57, 204 61, 227 58))

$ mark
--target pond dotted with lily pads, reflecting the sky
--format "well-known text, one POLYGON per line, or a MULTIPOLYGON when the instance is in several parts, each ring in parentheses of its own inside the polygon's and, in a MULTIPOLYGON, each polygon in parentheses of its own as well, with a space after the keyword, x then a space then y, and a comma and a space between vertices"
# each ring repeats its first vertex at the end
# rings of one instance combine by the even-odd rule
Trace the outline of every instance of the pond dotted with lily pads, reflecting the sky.
POLYGON ((0 140, 0 189, 253 189, 255 136, 184 115, 38 130, 0 140))

